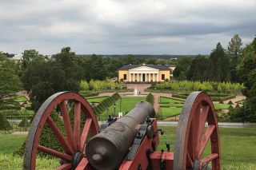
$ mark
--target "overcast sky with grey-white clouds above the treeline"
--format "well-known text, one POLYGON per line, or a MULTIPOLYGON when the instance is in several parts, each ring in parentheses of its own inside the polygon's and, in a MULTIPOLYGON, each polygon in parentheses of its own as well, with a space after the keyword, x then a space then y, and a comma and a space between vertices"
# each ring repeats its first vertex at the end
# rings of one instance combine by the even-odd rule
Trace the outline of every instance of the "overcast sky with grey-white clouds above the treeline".
POLYGON ((0 51, 208 54, 256 34, 256 0, 0 0, 0 51))

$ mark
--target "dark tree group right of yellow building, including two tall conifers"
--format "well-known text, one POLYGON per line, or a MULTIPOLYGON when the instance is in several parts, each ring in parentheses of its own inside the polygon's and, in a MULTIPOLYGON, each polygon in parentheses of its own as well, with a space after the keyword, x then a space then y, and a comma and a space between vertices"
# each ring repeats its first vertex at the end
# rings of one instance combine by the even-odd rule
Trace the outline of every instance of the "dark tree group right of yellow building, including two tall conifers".
POLYGON ((227 49, 218 42, 210 57, 198 55, 178 60, 174 77, 179 80, 238 82, 236 67, 241 56, 242 40, 236 34, 227 49))

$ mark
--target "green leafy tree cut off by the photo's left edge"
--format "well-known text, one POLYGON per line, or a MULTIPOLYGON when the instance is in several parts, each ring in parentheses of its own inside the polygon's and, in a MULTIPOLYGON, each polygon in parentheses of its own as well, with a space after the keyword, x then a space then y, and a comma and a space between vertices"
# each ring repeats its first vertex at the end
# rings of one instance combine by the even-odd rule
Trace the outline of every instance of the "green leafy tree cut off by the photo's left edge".
POLYGON ((22 83, 15 73, 14 62, 0 53, 0 100, 14 95, 20 89, 22 83))

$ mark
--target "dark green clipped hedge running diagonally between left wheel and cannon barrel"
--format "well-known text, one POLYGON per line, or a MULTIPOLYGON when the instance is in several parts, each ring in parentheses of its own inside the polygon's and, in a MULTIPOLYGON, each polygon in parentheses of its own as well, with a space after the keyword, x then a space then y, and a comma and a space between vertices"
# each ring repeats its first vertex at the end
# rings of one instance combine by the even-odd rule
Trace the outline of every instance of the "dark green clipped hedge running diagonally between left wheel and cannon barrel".
POLYGON ((106 97, 106 99, 104 99, 94 108, 95 113, 97 114, 104 113, 107 107, 114 105, 114 103, 118 101, 120 98, 121 96, 118 93, 114 93, 111 97, 106 97))

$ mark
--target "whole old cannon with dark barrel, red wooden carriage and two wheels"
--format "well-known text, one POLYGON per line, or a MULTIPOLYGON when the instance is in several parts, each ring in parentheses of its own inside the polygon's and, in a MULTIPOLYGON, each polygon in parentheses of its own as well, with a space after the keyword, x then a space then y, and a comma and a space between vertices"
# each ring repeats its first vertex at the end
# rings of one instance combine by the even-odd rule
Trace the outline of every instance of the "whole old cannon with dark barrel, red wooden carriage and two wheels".
POLYGON ((210 97, 194 92, 186 98, 178 121, 174 152, 166 143, 159 150, 154 107, 139 102, 124 117, 112 117, 101 127, 94 109, 77 93, 61 92, 38 109, 26 141, 23 169, 36 169, 37 152, 58 158, 57 169, 221 169, 218 122, 210 97), (74 120, 70 121, 70 107, 74 120), (51 114, 60 110, 62 134, 51 114), (81 119, 82 115, 85 119, 81 119), (44 125, 49 125, 63 151, 40 144, 44 125))

